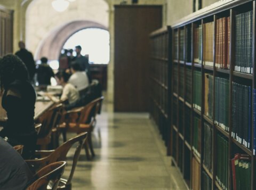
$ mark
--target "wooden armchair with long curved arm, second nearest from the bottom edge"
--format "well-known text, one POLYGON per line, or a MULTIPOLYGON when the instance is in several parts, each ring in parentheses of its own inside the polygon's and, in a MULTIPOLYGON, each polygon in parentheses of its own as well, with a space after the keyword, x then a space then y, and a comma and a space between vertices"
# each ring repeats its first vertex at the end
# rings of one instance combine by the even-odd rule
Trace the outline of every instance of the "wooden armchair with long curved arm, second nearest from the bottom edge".
POLYGON ((53 163, 56 161, 60 161, 60 160, 65 160, 66 155, 67 155, 68 151, 70 150, 71 146, 73 146, 75 143, 78 143, 78 145, 76 147, 75 154, 73 156, 73 164, 72 164, 72 168, 71 168, 71 171, 69 174, 69 178, 61 179, 60 185, 59 185, 60 187, 58 187, 58 189, 59 188, 60 189, 71 189, 71 180, 73 178, 76 164, 79 159, 79 155, 81 153, 81 149, 82 149, 82 146, 83 146, 86 138, 87 138, 87 133, 86 132, 81 133, 81 134, 77 135, 76 137, 69 139, 67 142, 63 143, 55 150, 36 151, 36 153, 38 155, 42 156, 43 158, 35 159, 35 160, 26 160, 26 162, 32 171, 34 171, 34 172, 38 171, 39 169, 46 166, 47 164, 50 164, 50 163, 53 163))

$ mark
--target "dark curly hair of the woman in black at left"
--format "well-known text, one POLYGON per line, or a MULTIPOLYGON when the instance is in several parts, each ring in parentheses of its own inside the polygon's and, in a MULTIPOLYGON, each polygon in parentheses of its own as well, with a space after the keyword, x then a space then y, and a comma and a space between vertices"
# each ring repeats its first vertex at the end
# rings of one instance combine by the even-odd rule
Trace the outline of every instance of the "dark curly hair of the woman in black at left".
POLYGON ((28 81, 27 67, 18 56, 5 55, 0 60, 1 90, 7 88, 15 80, 28 81))

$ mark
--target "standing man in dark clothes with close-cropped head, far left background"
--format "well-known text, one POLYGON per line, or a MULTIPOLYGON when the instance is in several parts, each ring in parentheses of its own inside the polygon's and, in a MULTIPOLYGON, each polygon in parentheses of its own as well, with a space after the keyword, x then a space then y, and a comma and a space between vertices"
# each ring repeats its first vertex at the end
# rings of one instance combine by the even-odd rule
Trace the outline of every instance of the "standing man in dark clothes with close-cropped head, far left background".
POLYGON ((34 61, 33 54, 25 48, 25 43, 22 41, 19 42, 19 48, 20 50, 16 52, 15 55, 20 57, 23 63, 25 63, 29 73, 29 80, 31 81, 34 78, 36 71, 36 64, 34 61))

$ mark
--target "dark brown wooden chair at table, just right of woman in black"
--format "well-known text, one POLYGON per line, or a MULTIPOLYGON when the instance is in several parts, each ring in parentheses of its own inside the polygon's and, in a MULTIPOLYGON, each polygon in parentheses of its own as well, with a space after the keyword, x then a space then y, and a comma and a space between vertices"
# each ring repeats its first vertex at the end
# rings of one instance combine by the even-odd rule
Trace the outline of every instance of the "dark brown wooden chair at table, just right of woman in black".
POLYGON ((47 145, 51 143, 52 128, 56 126, 58 115, 61 114, 63 104, 53 105, 42 117, 39 118, 39 122, 42 123, 42 127, 37 136, 37 145, 41 146, 41 150, 46 150, 47 145))

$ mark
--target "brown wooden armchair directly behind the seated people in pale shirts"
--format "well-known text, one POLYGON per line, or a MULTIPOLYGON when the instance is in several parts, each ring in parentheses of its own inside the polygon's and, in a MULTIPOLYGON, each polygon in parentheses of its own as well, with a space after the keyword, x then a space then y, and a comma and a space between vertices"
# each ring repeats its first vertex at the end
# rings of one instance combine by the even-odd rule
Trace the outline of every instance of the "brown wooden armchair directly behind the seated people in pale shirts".
POLYGON ((92 147, 91 133, 96 124, 96 115, 99 112, 103 98, 104 98, 103 96, 96 98, 95 100, 85 105, 84 107, 73 109, 64 113, 63 118, 65 117, 66 120, 59 126, 60 128, 62 128, 61 131, 62 131, 64 140, 67 132, 73 132, 77 134, 80 134, 83 132, 88 133, 88 139, 85 141, 85 144, 84 144, 87 160, 91 160, 89 148, 92 156, 95 155, 92 147), (79 117, 76 117, 74 119, 74 117, 70 115, 75 113, 79 114, 79 117))

